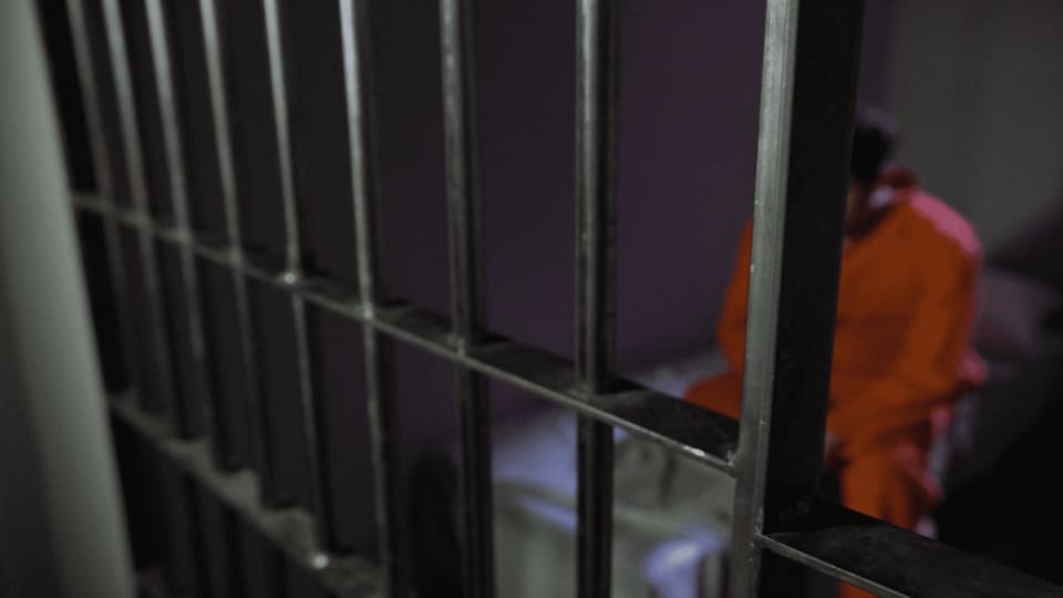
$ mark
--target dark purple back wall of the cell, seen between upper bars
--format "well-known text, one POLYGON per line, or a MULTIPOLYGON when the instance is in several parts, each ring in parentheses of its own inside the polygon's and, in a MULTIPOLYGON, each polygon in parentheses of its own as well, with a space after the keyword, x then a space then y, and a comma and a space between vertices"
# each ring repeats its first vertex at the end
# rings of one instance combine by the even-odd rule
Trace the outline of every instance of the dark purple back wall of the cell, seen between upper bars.
MULTIPOLYGON (((438 13, 431 3, 382 4, 373 33, 388 269, 398 297, 443 311, 438 13)), ((869 10, 876 23, 888 17, 883 2, 869 10)), ((571 355, 575 9, 481 2, 476 17, 488 323, 571 355)), ((622 6, 623 371, 712 342, 734 246, 752 212, 763 19, 763 3, 744 0, 622 6)), ((883 40, 870 31, 864 95, 873 103, 885 96, 885 70, 875 68, 883 40)))

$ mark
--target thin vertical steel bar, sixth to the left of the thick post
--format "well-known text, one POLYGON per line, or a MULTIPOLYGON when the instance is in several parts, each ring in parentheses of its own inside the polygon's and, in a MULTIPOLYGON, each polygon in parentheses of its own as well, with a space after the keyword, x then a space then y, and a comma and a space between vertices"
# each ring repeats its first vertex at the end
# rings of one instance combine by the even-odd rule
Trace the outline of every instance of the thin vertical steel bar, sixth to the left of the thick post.
MULTIPOLYGON (((174 200, 174 224, 180 239, 180 270, 188 306, 188 334, 193 360, 203 370, 206 367, 206 350, 203 332, 203 317, 199 307, 199 279, 196 271, 196 256, 193 248, 194 233, 188 209, 188 194, 185 182, 184 154, 180 146, 177 105, 173 89, 173 71, 169 60, 169 44, 166 39, 165 16, 162 0, 145 0, 147 27, 152 45, 152 60, 158 87, 158 104, 163 120, 163 143, 169 169, 171 195, 174 200)), ((198 390, 198 389, 197 389, 198 390)), ((185 398, 187 399, 187 398, 185 398)), ((185 408, 186 410, 187 408, 185 408)), ((182 410, 184 412, 185 410, 182 410)), ((209 410, 204 413, 209 421, 209 410)))

